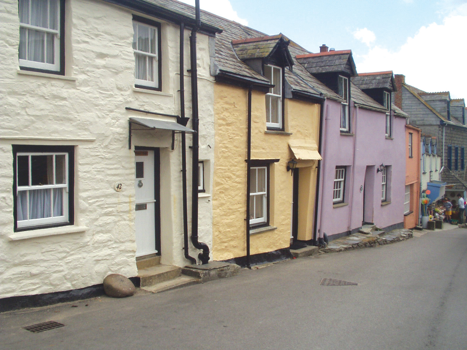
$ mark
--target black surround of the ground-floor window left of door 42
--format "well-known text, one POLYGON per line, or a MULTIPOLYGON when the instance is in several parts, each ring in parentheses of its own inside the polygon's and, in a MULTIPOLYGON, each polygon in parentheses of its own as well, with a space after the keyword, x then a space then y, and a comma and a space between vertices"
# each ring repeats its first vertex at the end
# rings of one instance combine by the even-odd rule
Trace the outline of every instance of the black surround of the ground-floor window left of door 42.
POLYGON ((50 227, 69 226, 74 224, 74 187, 75 187, 75 147, 74 146, 43 146, 43 145, 12 145, 13 152, 13 218, 14 218, 14 232, 39 230, 50 227), (66 152, 68 153, 68 221, 55 223, 35 225, 30 227, 18 228, 17 222, 17 171, 16 159, 17 154, 21 152, 66 152))

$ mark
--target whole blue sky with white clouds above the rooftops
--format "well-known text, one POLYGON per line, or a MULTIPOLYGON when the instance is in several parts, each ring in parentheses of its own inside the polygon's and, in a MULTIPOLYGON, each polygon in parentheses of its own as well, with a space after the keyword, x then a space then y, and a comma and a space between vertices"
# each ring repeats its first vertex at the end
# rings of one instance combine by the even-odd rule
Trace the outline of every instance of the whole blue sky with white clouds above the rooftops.
POLYGON ((351 49, 359 73, 392 70, 418 89, 467 100, 467 0, 200 0, 200 7, 283 33, 311 52, 322 44, 351 49))

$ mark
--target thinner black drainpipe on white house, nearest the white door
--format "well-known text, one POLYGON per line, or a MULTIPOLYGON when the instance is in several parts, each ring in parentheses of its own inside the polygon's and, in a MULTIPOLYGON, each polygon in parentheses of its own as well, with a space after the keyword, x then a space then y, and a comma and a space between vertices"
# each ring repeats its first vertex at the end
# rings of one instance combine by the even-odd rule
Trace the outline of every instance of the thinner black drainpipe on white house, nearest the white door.
MULTIPOLYGON (((180 120, 185 121, 185 83, 184 83, 184 32, 185 25, 180 23, 180 120)), ((186 125, 186 124, 185 124, 186 125)), ((189 255, 188 251, 188 199, 186 193, 186 134, 182 133, 182 191, 183 191, 183 250, 185 258, 191 264, 196 264, 196 259, 189 255)))

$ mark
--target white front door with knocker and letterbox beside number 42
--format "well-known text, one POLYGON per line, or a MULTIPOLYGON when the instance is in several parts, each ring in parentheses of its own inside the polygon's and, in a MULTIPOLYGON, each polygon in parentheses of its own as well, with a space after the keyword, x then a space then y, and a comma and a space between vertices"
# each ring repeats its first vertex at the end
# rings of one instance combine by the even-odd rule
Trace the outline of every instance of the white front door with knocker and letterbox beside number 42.
POLYGON ((157 253, 154 151, 135 153, 135 230, 136 256, 157 253))

